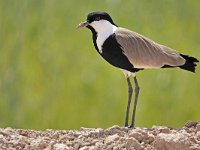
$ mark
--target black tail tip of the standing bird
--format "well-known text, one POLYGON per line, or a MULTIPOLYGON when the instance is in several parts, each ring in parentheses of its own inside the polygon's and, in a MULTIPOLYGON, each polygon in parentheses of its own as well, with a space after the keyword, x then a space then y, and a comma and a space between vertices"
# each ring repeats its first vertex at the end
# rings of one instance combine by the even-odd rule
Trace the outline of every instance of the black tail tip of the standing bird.
POLYGON ((184 65, 179 66, 179 67, 184 70, 195 72, 195 67, 197 66, 196 63, 198 63, 199 60, 188 55, 183 55, 183 54, 180 54, 180 55, 186 60, 186 62, 184 65))

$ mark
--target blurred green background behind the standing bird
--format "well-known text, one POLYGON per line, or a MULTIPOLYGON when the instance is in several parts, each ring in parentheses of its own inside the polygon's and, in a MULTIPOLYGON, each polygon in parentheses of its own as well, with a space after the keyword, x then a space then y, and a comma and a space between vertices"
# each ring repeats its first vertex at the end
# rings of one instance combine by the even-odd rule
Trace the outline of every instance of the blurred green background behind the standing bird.
MULTIPOLYGON (((200 58, 199 0, 1 0, 0 127, 78 129, 123 126, 127 83, 75 30, 91 11, 200 58)), ((200 65, 145 70, 136 126, 200 120, 200 65)))

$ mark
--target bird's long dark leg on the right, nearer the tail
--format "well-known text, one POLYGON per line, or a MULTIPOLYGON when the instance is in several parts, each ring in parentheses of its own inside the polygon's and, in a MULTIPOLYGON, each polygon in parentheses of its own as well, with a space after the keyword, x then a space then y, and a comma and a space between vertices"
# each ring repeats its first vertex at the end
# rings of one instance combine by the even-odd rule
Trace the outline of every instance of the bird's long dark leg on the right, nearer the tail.
POLYGON ((136 106, 137 106, 137 101, 138 101, 138 95, 139 95, 139 92, 140 92, 140 87, 139 87, 139 84, 138 84, 136 76, 134 76, 134 82, 135 82, 135 101, 134 101, 132 122, 131 122, 130 128, 134 127, 136 106))

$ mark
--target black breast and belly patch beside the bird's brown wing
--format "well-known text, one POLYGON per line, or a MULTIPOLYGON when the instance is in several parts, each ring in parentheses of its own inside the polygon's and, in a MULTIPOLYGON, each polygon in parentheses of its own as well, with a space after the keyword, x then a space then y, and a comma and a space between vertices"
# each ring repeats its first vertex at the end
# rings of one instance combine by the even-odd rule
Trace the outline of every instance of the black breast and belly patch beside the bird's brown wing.
POLYGON ((130 72, 137 72, 140 69, 134 68, 128 58, 124 55, 121 45, 117 42, 115 34, 110 35, 102 46, 102 53, 100 55, 111 65, 128 70, 130 72))

